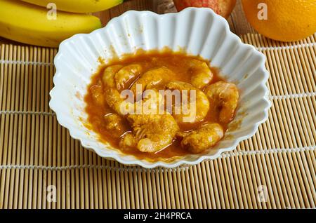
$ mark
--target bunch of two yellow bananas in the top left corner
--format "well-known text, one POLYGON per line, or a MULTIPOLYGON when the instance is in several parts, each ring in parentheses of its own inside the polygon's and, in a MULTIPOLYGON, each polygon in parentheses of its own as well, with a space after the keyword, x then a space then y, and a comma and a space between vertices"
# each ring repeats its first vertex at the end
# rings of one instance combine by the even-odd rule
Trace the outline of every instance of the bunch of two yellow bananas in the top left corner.
POLYGON ((0 36, 21 43, 58 47, 74 34, 101 27, 100 19, 87 13, 112 8, 122 1, 0 0, 0 36))

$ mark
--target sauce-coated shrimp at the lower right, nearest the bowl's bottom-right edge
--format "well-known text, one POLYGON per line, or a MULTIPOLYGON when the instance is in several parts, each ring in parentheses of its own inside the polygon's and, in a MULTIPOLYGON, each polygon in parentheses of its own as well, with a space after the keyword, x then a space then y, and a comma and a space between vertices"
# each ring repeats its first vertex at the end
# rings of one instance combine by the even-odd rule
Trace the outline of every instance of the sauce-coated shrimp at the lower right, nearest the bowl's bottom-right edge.
POLYGON ((218 123, 212 123, 201 126, 190 133, 177 133, 177 136, 183 137, 181 146, 184 149, 199 154, 219 142, 224 136, 224 130, 218 123))

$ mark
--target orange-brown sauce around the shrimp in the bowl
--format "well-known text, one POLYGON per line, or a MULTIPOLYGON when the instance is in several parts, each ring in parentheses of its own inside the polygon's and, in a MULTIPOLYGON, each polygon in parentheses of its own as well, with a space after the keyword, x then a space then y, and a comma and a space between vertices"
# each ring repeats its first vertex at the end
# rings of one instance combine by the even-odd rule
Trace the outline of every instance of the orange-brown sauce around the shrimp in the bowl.
MULTIPOLYGON (((161 151, 157 151, 156 153, 143 153, 141 151, 138 151, 138 149, 133 150, 122 150, 119 148, 119 140, 118 137, 113 137, 112 133, 108 132, 105 128, 105 122, 103 121, 103 117, 109 113, 113 113, 112 109, 108 106, 100 107, 100 105, 96 104, 93 100, 93 96, 91 93, 91 86, 95 86, 97 84, 100 84, 103 71, 106 67, 112 66, 112 65, 131 65, 131 64, 140 64, 145 69, 143 70, 143 73, 145 73, 149 69, 157 68, 157 67, 167 67, 172 72, 177 74, 177 79, 174 81, 185 81, 187 83, 190 83, 190 72, 189 65, 187 65, 185 60, 188 58, 194 58, 198 60, 202 60, 206 62, 207 65, 209 65, 209 61, 203 60, 202 58, 190 56, 183 52, 174 53, 171 50, 163 50, 163 51, 157 51, 152 50, 149 52, 138 51, 138 53, 133 55, 124 55, 124 57, 120 59, 114 59, 110 62, 107 62, 107 64, 100 65, 100 69, 96 74, 93 75, 91 79, 91 84, 88 86, 88 93, 86 94, 84 100, 86 102, 86 113, 88 114, 88 127, 91 128, 94 132, 98 133, 100 136, 100 140, 103 142, 108 142, 112 145, 112 147, 119 149, 124 154, 132 154, 133 156, 136 156, 137 158, 145 158, 150 161, 154 161, 157 159, 164 159, 164 160, 172 160, 174 158, 179 158, 180 156, 185 156, 189 154, 188 151, 180 147, 180 140, 176 139, 173 141, 173 144, 169 145, 169 147, 166 147, 165 149, 162 149, 161 151)), ((214 67, 209 67, 211 71, 213 72, 213 80, 211 83, 223 80, 220 78, 220 74, 218 69, 214 67)), ((141 75, 140 75, 141 76, 141 75)), ((130 83, 130 86, 132 83, 130 83)), ((199 123, 186 123, 179 125, 180 131, 190 131, 195 130, 199 126, 201 126, 203 123, 219 123, 218 121, 218 109, 214 108, 213 106, 210 106, 209 113, 205 117, 205 119, 199 123)), ((226 130, 227 125, 221 123, 223 128, 226 130)), ((126 121, 126 126, 129 126, 129 123, 126 121)), ((131 131, 131 128, 129 128, 129 131, 131 131)))

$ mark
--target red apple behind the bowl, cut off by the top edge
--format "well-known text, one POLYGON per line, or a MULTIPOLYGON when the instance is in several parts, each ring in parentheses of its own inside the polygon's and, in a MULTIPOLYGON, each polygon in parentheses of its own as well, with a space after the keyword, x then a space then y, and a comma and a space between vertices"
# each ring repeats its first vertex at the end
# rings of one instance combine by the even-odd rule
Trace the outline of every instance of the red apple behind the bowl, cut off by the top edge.
POLYGON ((173 0, 178 11, 187 7, 211 8, 223 18, 228 18, 235 8, 236 0, 173 0))

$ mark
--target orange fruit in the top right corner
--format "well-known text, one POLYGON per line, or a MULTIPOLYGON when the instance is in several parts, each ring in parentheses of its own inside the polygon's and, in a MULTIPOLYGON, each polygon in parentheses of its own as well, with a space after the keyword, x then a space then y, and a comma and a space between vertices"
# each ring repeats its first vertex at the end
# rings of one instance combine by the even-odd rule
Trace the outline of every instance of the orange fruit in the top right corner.
POLYGON ((297 41, 316 32, 315 0, 242 0, 242 6, 252 27, 270 39, 297 41), (268 6, 266 20, 259 20, 258 4, 268 6))

